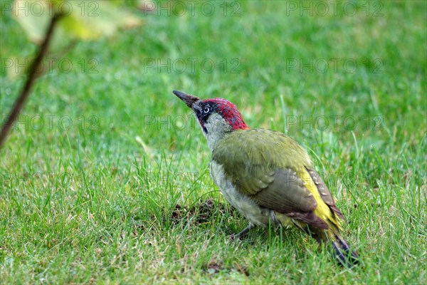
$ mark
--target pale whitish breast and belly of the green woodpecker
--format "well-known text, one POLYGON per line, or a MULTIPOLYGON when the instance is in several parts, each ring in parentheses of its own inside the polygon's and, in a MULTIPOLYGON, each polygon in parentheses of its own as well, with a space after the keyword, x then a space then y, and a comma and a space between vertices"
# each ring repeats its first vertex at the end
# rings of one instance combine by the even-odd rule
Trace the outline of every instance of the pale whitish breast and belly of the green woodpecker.
MULTIPOLYGON (((274 211, 258 206, 251 197, 242 195, 241 192, 238 192, 233 183, 227 179, 223 166, 215 160, 211 161, 211 176, 222 195, 226 197, 227 201, 230 202, 233 207, 236 207, 249 222, 258 226, 268 225, 269 219, 274 217, 274 211)), ((274 220, 273 218, 273 221, 274 220)))

